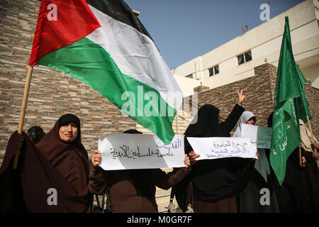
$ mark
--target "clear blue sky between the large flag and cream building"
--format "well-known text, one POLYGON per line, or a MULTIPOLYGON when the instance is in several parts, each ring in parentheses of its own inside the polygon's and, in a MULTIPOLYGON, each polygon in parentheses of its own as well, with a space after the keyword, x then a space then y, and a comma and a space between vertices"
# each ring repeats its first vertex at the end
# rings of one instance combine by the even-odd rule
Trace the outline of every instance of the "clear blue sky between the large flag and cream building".
MULTIPOLYGON (((269 4, 270 18, 303 0, 124 0, 140 11, 140 21, 159 52, 173 69, 227 43, 264 23, 262 4, 269 4)), ((283 28, 284 29, 284 28, 283 28)))

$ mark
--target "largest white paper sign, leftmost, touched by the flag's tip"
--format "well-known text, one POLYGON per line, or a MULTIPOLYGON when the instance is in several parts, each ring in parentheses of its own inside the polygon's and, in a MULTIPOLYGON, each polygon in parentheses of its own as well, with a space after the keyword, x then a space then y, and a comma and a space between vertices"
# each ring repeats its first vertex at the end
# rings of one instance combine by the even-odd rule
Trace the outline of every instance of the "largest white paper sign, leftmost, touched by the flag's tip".
POLYGON ((99 138, 103 170, 185 167, 184 135, 163 143, 157 135, 108 134, 99 138))

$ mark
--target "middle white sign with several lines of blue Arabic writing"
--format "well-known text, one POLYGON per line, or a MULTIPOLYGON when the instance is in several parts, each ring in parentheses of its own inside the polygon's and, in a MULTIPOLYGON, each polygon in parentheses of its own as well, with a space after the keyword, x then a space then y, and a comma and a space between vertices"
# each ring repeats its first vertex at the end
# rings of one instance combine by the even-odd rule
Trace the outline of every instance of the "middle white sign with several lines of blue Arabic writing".
POLYGON ((252 157, 257 159, 256 145, 249 138, 238 137, 187 137, 194 152, 201 157, 196 160, 223 157, 252 157))

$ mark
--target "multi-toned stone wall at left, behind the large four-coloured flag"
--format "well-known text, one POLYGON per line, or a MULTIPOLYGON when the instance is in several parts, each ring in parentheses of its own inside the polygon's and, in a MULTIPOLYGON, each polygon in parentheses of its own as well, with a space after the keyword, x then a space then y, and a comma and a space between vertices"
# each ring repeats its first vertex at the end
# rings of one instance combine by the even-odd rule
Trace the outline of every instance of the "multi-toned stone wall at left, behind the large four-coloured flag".
MULTIPOLYGON (((26 70, 40 1, 1 1, 0 5, 0 165, 11 133, 18 129, 26 70)), ((41 126, 50 131, 62 115, 79 116, 82 142, 91 153, 105 133, 136 128, 106 98, 82 82, 48 67, 35 66, 23 131, 41 126)))

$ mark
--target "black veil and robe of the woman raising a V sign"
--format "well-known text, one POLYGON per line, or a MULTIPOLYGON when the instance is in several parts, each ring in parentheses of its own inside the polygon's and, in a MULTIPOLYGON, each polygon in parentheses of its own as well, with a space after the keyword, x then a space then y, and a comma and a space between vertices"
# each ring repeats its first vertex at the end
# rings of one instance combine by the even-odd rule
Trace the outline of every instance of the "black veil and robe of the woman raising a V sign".
MULTIPOLYGON (((198 110, 197 121, 185 131, 186 137, 229 137, 242 112, 235 105, 226 121, 219 123, 219 109, 206 104, 198 110)), ((185 140, 185 152, 191 151, 185 140)), ((194 199, 214 202, 228 196, 235 196, 245 186, 250 170, 250 159, 240 157, 200 160, 192 167, 194 199)))

